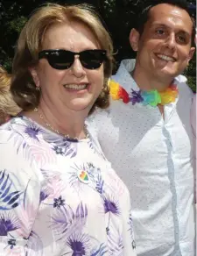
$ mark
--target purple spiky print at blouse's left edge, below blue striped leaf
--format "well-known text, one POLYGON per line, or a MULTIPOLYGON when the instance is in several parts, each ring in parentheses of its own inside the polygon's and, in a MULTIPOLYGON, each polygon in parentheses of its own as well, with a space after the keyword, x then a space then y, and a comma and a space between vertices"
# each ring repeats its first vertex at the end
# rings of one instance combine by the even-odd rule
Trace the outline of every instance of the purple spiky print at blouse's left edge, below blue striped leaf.
POLYGON ((19 222, 17 217, 5 213, 0 215, 0 237, 7 236, 10 231, 15 231, 18 228, 19 222))

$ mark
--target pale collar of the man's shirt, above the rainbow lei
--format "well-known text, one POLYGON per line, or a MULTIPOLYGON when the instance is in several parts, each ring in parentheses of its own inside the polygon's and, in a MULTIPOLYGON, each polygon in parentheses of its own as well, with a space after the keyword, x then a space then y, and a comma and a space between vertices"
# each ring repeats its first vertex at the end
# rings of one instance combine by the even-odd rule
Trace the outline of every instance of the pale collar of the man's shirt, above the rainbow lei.
MULTIPOLYGON (((112 75, 112 79, 116 82, 120 83, 120 85, 125 89, 128 93, 130 93, 131 89, 139 90, 137 83, 132 78, 130 73, 133 71, 136 65, 135 59, 126 59, 122 60, 120 67, 118 68, 116 75, 112 75)), ((186 76, 178 75, 174 78, 174 83, 179 86, 179 83, 186 82, 186 76)))

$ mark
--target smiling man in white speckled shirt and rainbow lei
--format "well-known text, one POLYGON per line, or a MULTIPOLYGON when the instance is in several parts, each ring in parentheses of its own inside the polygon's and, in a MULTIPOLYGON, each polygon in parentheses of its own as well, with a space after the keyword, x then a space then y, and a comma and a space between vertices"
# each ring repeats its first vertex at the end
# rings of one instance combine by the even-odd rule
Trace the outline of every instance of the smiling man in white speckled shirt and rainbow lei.
POLYGON ((193 57, 193 20, 172 0, 154 1, 138 21, 136 62, 122 61, 109 83, 116 100, 91 122, 130 189, 137 255, 193 256, 193 93, 180 75, 193 57))

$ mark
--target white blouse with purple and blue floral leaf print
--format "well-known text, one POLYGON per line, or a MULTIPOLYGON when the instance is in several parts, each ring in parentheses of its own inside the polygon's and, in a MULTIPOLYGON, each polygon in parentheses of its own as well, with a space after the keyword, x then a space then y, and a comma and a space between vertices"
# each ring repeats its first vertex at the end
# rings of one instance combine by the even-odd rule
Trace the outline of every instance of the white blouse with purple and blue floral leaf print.
POLYGON ((0 127, 0 256, 133 256, 135 247, 128 189, 91 135, 65 139, 27 117, 0 127))

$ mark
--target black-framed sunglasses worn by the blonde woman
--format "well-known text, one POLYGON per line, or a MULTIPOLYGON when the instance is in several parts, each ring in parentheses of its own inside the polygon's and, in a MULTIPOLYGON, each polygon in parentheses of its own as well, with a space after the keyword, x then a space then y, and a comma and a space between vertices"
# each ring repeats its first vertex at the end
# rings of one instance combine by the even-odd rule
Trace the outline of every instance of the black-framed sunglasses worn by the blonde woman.
POLYGON ((105 50, 86 50, 81 53, 74 53, 66 50, 45 50, 39 52, 39 59, 46 58, 52 68, 67 69, 74 64, 74 55, 79 55, 83 68, 95 69, 102 66, 107 60, 105 50))

